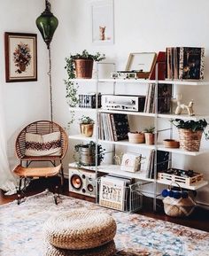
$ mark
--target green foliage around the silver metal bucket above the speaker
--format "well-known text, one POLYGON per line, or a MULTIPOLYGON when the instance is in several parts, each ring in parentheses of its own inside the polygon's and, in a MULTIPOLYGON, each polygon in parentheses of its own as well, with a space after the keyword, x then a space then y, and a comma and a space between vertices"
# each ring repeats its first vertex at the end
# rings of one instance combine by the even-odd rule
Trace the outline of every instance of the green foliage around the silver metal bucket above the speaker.
POLYGON ((81 161, 81 148, 89 148, 90 155, 92 156, 92 166, 96 165, 96 149, 97 149, 97 165, 100 165, 100 163, 104 159, 104 151, 105 149, 102 147, 101 144, 96 144, 93 141, 90 141, 88 144, 75 144, 74 150, 77 153, 77 156, 74 154, 74 159, 77 163, 78 167, 81 167, 82 165, 85 166, 85 163, 81 161))

